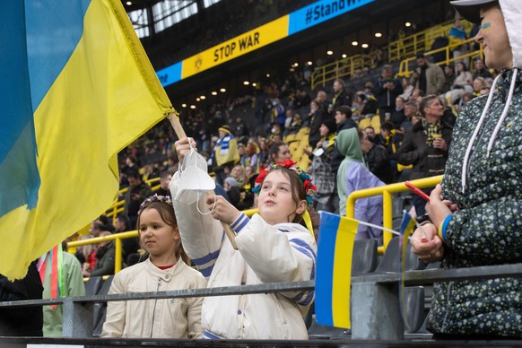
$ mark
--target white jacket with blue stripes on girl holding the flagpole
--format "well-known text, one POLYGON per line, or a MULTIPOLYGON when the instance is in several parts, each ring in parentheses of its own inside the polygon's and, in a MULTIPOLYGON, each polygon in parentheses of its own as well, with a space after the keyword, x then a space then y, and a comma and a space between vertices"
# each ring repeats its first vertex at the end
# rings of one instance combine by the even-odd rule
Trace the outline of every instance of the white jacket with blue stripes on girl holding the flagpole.
MULTIPOLYGON (((315 279, 317 244, 297 223, 269 225, 255 214, 241 214, 231 227, 239 250, 231 247, 222 225, 198 212, 180 195, 178 172, 170 181, 183 247, 209 287, 315 279)), ((194 198, 194 197, 193 197, 194 198)), ((191 199, 190 201, 194 201, 191 199)), ((208 212, 199 200, 199 210, 208 212)), ((314 291, 248 294, 204 299, 202 326, 210 335, 230 339, 308 339, 302 318, 314 291)))

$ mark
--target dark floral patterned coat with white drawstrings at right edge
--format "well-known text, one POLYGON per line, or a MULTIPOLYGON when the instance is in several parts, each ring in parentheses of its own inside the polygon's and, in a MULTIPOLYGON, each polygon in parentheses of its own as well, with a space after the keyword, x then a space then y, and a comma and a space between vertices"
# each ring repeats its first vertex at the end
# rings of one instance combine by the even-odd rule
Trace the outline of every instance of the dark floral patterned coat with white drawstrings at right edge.
MULTIPOLYGON (((487 95, 467 103, 457 118, 442 180, 443 197, 458 206, 448 224, 445 268, 522 262, 522 76, 498 135, 513 71, 503 72, 480 131, 472 139, 487 95), (488 143, 494 138, 492 151, 488 143), (467 145, 474 142, 463 190, 467 145)), ((522 277, 436 283, 428 329, 448 335, 522 337, 522 277)))

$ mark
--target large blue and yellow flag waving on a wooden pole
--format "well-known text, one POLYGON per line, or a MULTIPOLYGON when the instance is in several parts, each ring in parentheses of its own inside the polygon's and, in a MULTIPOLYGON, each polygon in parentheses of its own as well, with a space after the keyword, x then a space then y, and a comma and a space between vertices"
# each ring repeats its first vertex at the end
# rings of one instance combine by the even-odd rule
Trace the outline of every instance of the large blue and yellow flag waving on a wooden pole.
POLYGON ((114 202, 117 152, 174 112, 120 0, 1 1, 0 274, 114 202))

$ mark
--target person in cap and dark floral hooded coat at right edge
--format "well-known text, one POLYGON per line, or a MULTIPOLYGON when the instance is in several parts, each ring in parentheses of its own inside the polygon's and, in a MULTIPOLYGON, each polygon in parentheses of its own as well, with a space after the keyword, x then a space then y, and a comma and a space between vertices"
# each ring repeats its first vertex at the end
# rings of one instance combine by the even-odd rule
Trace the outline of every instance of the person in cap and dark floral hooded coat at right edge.
MULTIPOLYGON (((446 172, 430 196, 431 222, 413 233, 413 252, 445 269, 522 262, 522 51, 518 1, 453 1, 481 23, 475 41, 486 65, 501 71, 489 96, 466 103, 457 117, 446 172), (478 4, 477 4, 478 3, 478 4)), ((434 338, 522 337, 522 277, 433 284, 427 328, 434 338)))

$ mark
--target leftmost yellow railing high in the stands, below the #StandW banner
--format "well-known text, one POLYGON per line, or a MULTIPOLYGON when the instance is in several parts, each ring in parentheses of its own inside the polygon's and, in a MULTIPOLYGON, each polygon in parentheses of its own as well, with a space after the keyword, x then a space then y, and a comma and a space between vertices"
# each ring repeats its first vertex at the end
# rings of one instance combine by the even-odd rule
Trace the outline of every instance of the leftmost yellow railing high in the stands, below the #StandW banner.
POLYGON ((336 60, 334 63, 318 66, 311 77, 312 91, 319 85, 325 87, 326 83, 350 76, 357 69, 364 66, 374 66, 375 62, 371 55, 355 55, 336 60))

